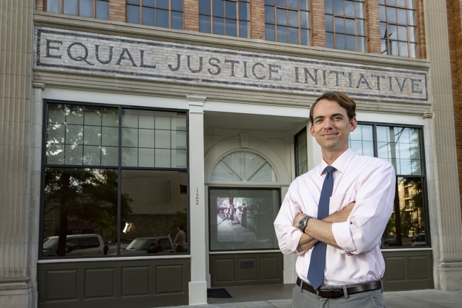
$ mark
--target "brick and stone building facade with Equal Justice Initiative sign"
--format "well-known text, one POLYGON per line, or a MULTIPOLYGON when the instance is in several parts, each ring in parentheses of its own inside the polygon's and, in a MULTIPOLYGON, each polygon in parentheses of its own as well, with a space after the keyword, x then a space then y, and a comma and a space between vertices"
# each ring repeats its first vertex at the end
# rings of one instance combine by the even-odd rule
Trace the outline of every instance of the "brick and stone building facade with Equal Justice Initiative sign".
POLYGON ((0 307, 294 283, 272 223, 330 90, 397 174, 385 290, 461 289, 460 1, 0 5, 0 307))

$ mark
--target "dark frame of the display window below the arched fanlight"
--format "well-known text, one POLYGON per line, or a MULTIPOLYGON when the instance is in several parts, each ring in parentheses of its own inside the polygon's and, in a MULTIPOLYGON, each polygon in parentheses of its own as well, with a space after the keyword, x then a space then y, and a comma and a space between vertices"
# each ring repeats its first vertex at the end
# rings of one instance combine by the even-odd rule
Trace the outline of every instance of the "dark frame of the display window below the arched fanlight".
POLYGON ((222 253, 237 253, 237 252, 252 252, 252 251, 268 251, 272 252, 275 250, 279 251, 279 248, 247 248, 247 249, 239 249, 239 250, 213 250, 212 249, 212 234, 210 228, 210 223, 211 223, 211 217, 210 217, 210 191, 211 190, 219 190, 219 189, 234 189, 234 190, 242 190, 242 191, 252 191, 252 190, 265 190, 265 191, 278 191, 279 192, 279 208, 278 208, 278 213, 279 210, 281 209, 282 206, 282 196, 281 196, 281 188, 280 187, 268 187, 268 186, 217 186, 214 184, 214 186, 208 186, 207 189, 207 198, 208 198, 208 252, 211 254, 222 254, 222 253))

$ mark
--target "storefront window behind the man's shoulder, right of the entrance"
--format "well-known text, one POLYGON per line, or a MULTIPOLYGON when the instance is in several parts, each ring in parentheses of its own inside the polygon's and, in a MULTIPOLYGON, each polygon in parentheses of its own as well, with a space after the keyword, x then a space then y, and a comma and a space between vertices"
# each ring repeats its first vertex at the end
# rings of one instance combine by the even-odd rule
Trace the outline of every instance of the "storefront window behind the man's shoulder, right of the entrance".
POLYGON ((394 211, 382 247, 429 246, 421 139, 417 127, 358 124, 350 133, 353 152, 390 161, 397 176, 394 211))

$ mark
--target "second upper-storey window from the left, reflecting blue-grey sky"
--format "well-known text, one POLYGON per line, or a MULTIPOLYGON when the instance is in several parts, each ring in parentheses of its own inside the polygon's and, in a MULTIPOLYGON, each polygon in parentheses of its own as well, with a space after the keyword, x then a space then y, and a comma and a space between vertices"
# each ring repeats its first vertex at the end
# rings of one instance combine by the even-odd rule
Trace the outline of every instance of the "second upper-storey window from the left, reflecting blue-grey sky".
POLYGON ((183 0, 127 0, 127 22, 183 30, 183 0))

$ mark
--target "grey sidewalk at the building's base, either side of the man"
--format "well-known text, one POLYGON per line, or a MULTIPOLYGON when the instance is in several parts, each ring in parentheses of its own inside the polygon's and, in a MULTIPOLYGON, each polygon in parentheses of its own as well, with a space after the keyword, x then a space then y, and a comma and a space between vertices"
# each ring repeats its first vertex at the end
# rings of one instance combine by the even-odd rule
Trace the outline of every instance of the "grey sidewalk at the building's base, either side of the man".
MULTIPOLYGON (((207 305, 183 308, 291 308, 294 285, 226 287, 232 298, 209 298, 207 305)), ((462 291, 418 290, 385 292, 387 308, 462 307, 462 291)))

